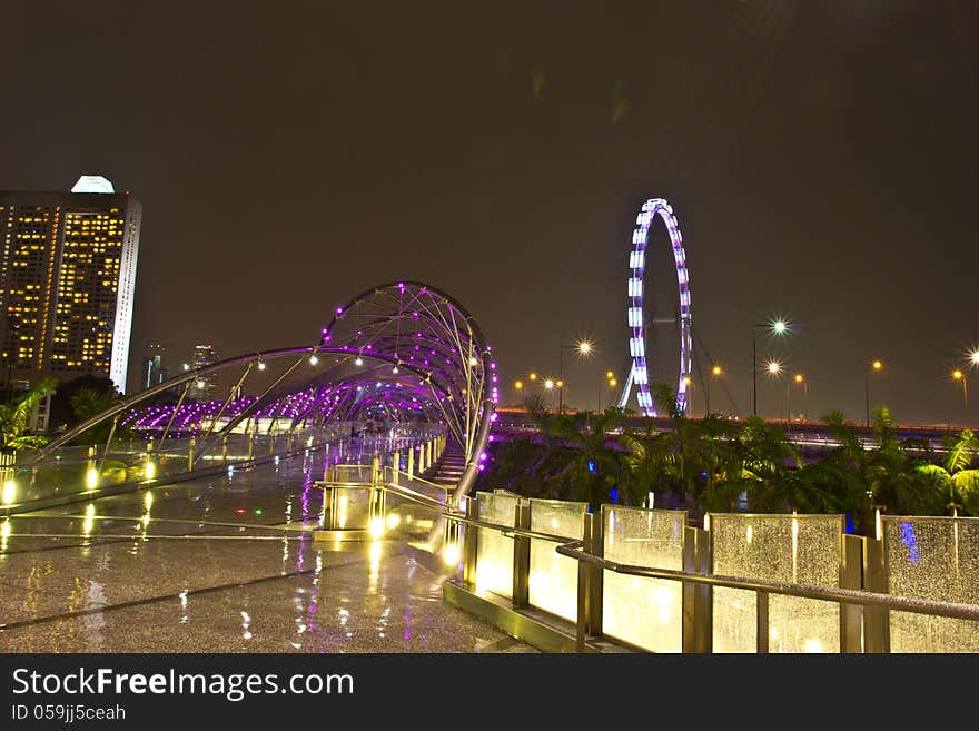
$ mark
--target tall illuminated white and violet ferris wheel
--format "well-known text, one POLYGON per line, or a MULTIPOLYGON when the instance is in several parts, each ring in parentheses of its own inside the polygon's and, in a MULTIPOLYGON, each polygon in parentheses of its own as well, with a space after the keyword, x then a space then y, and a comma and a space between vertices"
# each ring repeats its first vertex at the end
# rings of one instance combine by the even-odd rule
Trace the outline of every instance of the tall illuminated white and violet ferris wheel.
POLYGON ((691 329, 693 318, 690 312, 690 275, 686 270, 686 255, 683 251, 683 236, 680 234, 680 225, 673 215, 673 207, 664 198, 650 198, 643 204, 642 210, 635 219, 635 230, 632 233, 632 251, 629 255, 629 355, 632 359, 632 368, 619 407, 624 408, 629 403, 632 387, 636 388, 636 399, 640 412, 644 416, 656 416, 656 406, 653 394, 650 391, 650 374, 646 362, 646 332, 643 309, 643 286, 645 279, 646 245, 649 244, 650 227, 660 218, 670 234, 670 244, 673 248, 673 260, 676 264, 676 286, 680 293, 680 307, 678 309, 676 324, 680 327, 680 376, 676 384, 676 412, 685 414, 689 407, 689 388, 691 383, 691 366, 693 345, 691 329))

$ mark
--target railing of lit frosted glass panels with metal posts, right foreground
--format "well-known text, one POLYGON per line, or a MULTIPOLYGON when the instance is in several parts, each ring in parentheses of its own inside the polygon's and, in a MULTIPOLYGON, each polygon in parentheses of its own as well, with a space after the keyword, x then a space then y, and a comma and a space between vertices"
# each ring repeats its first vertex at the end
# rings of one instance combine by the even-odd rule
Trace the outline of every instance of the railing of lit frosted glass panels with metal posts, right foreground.
POLYGON ((446 514, 465 529, 446 599, 552 650, 979 652, 979 518, 884 516, 867 539, 838 515, 699 529, 605 505, 570 540, 578 506, 547 503, 477 493, 446 514))

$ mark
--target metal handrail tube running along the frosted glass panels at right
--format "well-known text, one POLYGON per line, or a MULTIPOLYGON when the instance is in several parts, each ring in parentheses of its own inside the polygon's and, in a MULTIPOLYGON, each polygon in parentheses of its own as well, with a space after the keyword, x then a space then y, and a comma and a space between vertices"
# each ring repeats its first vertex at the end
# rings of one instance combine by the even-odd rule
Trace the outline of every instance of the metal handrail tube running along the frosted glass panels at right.
MULTIPOLYGON (((487 526, 488 527, 488 526, 487 526)), ((584 541, 572 541, 557 546, 557 553, 571 559, 596 564, 619 574, 630 576, 644 576, 647 579, 665 579, 671 581, 684 581, 692 584, 705 584, 708 586, 724 586, 729 589, 745 589, 755 592, 769 592, 772 594, 785 594, 802 599, 817 599, 822 601, 838 602, 841 604, 861 604, 863 606, 882 606, 900 612, 916 612, 918 614, 933 614, 958 620, 979 621, 979 604, 961 604, 957 602, 941 602, 930 599, 917 599, 913 596, 896 596, 893 594, 880 594, 857 589, 837 589, 815 586, 813 584, 792 584, 763 579, 743 579, 741 576, 719 576, 696 574, 688 571, 672 569, 652 569, 634 564, 622 564, 610 561, 603 556, 596 556, 584 550, 584 541)))

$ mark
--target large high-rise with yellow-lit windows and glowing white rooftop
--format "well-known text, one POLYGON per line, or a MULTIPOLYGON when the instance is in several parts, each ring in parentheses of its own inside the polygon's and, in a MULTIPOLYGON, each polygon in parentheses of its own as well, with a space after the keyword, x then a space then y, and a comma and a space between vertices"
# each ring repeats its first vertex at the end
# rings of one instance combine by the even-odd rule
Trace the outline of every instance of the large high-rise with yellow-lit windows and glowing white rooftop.
POLYGON ((100 176, 0 191, 0 357, 8 379, 103 373, 126 392, 142 206, 100 176))

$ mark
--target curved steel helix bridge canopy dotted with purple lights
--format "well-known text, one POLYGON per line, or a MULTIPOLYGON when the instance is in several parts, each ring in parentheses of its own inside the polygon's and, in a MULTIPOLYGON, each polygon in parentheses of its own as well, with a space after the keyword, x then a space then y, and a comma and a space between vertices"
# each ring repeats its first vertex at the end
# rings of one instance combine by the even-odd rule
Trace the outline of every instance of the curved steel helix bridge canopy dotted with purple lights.
POLYGON ((416 281, 384 284, 337 307, 316 345, 228 358, 184 373, 123 399, 41 450, 41 461, 81 433, 110 422, 164 439, 198 438, 197 458, 235 429, 377 419, 445 425, 465 454, 456 492, 468 492, 495 418, 496 364, 469 313, 439 289, 416 281), (188 399, 191 386, 221 379, 226 397, 188 399), (251 395, 244 395, 245 391, 251 395), (155 406, 164 392, 176 404, 155 406))

